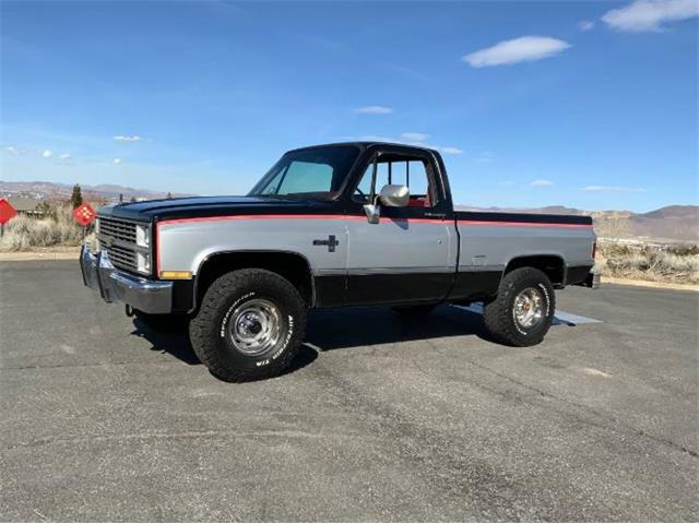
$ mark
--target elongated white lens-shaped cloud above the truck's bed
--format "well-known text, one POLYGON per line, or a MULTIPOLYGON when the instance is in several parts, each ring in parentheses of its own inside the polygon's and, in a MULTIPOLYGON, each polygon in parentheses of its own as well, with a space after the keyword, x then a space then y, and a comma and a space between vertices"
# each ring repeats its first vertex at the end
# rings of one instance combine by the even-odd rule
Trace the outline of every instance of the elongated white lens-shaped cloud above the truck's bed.
POLYGON ((466 55, 462 60, 472 68, 508 66, 553 57, 569 47, 567 41, 548 36, 520 36, 466 55))

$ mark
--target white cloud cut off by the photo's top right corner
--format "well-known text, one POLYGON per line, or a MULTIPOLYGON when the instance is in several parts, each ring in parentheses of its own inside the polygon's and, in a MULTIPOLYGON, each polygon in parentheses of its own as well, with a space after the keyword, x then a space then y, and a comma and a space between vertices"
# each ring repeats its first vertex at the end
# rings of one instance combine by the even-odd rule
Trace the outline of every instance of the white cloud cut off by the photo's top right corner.
POLYGON ((699 0, 636 0, 613 9, 602 16, 602 22, 619 31, 657 32, 664 23, 699 16, 699 0))

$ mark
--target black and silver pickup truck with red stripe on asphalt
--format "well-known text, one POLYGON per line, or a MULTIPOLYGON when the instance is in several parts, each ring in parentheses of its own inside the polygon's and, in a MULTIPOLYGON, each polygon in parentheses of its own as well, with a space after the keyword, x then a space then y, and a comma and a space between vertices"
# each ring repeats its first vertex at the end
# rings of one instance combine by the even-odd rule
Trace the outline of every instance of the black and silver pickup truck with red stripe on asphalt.
POLYGON ((84 284, 146 325, 186 323, 199 359, 232 382, 284 370, 309 309, 382 305, 419 317, 482 301, 495 341, 530 346, 552 324, 554 290, 594 281, 589 216, 459 211, 441 156, 426 147, 304 147, 247 196, 97 215, 84 284))

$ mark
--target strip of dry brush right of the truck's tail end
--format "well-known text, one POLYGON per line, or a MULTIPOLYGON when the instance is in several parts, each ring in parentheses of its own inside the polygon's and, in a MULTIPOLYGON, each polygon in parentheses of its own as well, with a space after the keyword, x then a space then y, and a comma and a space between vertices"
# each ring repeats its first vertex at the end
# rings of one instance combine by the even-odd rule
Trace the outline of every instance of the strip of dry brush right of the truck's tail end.
POLYGON ((595 266, 608 276, 699 284, 699 247, 602 242, 595 266))

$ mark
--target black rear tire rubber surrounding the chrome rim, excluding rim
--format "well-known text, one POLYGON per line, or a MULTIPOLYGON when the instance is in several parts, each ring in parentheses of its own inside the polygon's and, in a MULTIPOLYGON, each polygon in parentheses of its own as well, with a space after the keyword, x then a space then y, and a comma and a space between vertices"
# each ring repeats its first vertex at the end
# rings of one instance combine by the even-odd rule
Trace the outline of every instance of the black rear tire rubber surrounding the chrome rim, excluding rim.
POLYGON ((497 297, 485 303, 483 320, 495 341, 509 346, 524 347, 542 342, 555 312, 556 295, 546 274, 534 267, 519 267, 505 275, 497 297), (541 322, 528 330, 516 320, 514 299, 530 287, 541 291, 545 309, 541 322))

